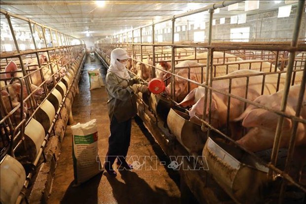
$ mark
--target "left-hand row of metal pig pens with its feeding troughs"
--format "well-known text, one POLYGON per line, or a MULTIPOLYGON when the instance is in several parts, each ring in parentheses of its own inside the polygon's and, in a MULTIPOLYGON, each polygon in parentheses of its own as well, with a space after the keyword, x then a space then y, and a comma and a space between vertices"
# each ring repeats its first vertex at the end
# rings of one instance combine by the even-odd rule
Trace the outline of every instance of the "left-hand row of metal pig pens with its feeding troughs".
POLYGON ((66 125, 73 120, 71 107, 84 64, 84 45, 72 45, 74 37, 30 19, 1 10, 1 19, 2 15, 10 26, 14 19, 31 33, 52 34, 54 42, 51 48, 46 36, 33 38, 35 49, 21 51, 11 26, 16 49, 0 53, 1 203, 29 203, 30 198, 43 202, 66 125))

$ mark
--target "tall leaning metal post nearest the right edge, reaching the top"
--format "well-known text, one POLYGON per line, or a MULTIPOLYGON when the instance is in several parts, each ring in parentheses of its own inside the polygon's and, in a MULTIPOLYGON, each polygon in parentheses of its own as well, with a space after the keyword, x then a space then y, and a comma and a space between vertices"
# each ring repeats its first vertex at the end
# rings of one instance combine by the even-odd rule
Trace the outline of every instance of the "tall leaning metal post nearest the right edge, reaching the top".
MULTIPOLYGON (((294 33, 293 33, 293 37, 291 41, 292 47, 297 47, 297 42, 298 42, 299 32, 300 32, 300 27, 301 27, 301 22, 302 22, 304 3, 305 3, 305 0, 299 0, 298 2, 294 33)), ((295 51, 291 51, 289 54, 289 64, 288 64, 288 68, 286 72, 286 82, 284 86, 284 94, 282 96, 281 107, 280 107, 280 111, 282 112, 286 110, 287 96, 289 92, 290 80, 291 80, 292 71, 293 71, 294 58, 295 58, 295 51)), ((271 154, 271 164, 272 165, 275 165, 277 161, 277 155, 278 155, 279 144, 280 144, 280 136, 281 136, 281 127, 282 127, 283 121, 284 121, 284 117, 280 116, 277 122, 275 139, 274 139, 273 149, 272 149, 272 154, 271 154)), ((269 169, 268 177, 271 178, 272 174, 273 174, 273 171, 269 169)))

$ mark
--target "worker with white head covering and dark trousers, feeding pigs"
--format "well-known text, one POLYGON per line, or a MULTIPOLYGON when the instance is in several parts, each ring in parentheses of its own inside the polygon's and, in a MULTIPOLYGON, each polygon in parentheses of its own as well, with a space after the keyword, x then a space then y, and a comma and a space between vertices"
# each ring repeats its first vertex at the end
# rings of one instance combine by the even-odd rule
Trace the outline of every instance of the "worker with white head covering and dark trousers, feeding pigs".
POLYGON ((109 97, 107 105, 111 121, 111 135, 104 169, 111 176, 117 175, 113 168, 115 159, 119 167, 128 170, 133 168, 125 159, 131 139, 131 121, 137 114, 136 94, 139 91, 149 93, 146 85, 139 84, 140 78, 131 78, 132 74, 127 72, 125 66, 128 59, 124 49, 114 49, 111 53, 111 65, 106 75, 105 87, 109 97))

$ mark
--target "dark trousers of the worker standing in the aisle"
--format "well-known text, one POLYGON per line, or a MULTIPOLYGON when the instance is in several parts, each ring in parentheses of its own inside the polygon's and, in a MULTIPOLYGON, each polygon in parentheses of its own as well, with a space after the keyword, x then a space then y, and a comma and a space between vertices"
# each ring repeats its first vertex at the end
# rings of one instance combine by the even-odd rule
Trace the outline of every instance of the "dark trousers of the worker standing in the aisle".
POLYGON ((111 167, 118 158, 118 161, 125 161, 131 140, 132 119, 124 122, 117 122, 115 116, 111 122, 111 135, 109 137, 109 150, 106 155, 106 167, 111 167))

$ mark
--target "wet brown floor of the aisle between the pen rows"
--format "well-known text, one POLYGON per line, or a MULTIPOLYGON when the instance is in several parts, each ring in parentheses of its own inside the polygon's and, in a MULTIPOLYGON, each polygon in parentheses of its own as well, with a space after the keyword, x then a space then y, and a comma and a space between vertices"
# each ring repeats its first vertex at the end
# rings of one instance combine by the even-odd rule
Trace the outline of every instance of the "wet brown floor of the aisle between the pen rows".
MULTIPOLYGON (((106 69, 102 67, 102 63, 97 58, 94 62, 91 62, 88 57, 79 82, 79 94, 76 94, 72 111, 74 124, 97 119, 99 155, 105 156, 110 134, 110 122, 106 106, 108 96, 104 87, 89 90, 87 74, 89 68, 96 67, 100 68, 101 74, 105 78, 106 69)), ((103 172, 82 185, 74 187, 72 131, 70 126, 67 126, 48 203, 179 203, 178 173, 171 172, 166 169, 165 165, 159 164, 161 161, 165 161, 165 156, 139 118, 132 121, 131 135, 128 156, 155 156, 157 158, 157 170, 116 170, 117 176, 115 178, 110 177, 107 172, 103 172)), ((104 162, 104 158, 102 160, 101 162, 104 162)))

